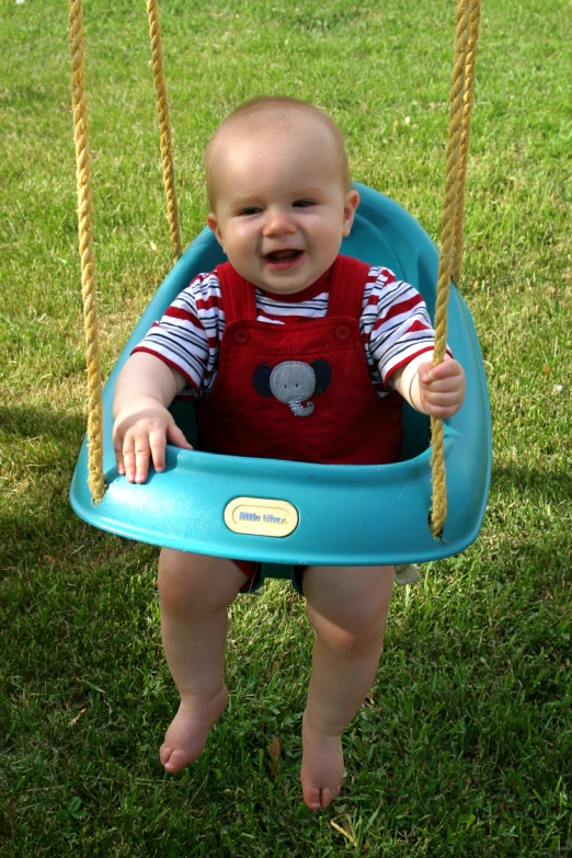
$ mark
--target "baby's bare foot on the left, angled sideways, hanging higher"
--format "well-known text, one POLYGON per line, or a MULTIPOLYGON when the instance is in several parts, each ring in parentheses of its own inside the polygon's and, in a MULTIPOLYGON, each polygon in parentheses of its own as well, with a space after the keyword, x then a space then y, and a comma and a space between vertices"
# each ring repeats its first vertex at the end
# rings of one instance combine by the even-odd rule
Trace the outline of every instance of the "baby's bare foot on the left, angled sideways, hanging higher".
POLYGON ((184 697, 159 748, 159 757, 167 771, 180 771, 194 763, 205 747, 208 731, 222 714, 228 691, 222 688, 210 700, 184 697))

